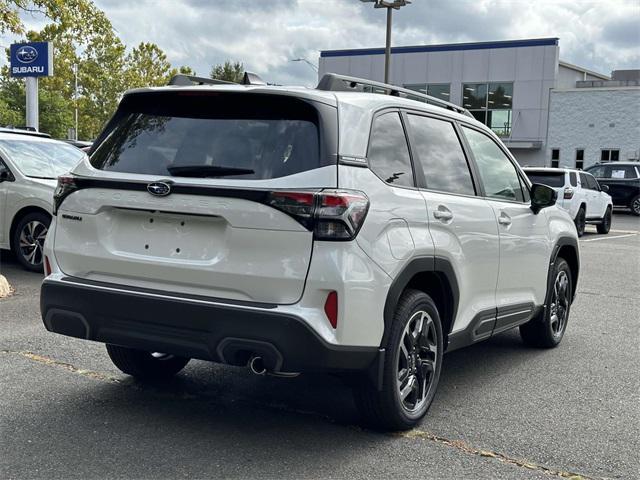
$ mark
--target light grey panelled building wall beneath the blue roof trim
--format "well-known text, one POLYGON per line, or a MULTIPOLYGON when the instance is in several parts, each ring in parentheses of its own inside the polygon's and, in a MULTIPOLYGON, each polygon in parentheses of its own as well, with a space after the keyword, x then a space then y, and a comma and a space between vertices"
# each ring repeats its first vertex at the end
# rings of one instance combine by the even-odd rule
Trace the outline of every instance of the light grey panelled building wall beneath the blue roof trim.
MULTIPOLYGON (((512 142, 542 142, 542 148, 513 148, 521 162, 542 164, 545 158, 549 91, 558 75, 558 45, 394 53, 390 82, 395 85, 448 83, 449 101, 462 105, 464 83, 513 83, 512 142), (522 159, 521 159, 522 158, 522 159)), ((384 55, 321 57, 320 77, 339 73, 384 80, 384 55)))

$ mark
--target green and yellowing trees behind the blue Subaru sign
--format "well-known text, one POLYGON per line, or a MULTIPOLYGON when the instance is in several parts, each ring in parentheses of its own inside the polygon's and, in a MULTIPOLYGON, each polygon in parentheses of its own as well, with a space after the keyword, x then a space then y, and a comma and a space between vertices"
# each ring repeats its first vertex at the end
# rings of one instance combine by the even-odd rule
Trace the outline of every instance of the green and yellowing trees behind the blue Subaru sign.
MULTIPOLYGON (((121 95, 130 88, 166 85, 175 69, 153 43, 140 43, 129 53, 107 16, 92 0, 0 0, 0 33, 24 34, 27 41, 54 45, 54 76, 40 79, 40 130, 67 136, 75 125, 78 138, 92 139, 113 115, 121 95), (39 32, 24 32, 20 12, 37 11, 49 23, 39 32), (75 91, 74 66, 78 66, 75 91)), ((8 56, 7 51, 7 56, 8 56)), ((24 81, 0 72, 0 125, 24 125, 24 81)))

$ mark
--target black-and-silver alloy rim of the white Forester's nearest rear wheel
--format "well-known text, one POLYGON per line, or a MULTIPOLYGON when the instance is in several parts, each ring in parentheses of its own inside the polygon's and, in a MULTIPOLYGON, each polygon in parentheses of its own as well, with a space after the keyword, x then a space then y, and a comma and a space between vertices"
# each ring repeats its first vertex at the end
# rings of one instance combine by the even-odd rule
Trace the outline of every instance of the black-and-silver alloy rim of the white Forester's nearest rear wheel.
POLYGON ((407 411, 415 412, 425 404, 436 369, 437 331, 425 311, 416 312, 400 337, 397 364, 397 389, 407 411))

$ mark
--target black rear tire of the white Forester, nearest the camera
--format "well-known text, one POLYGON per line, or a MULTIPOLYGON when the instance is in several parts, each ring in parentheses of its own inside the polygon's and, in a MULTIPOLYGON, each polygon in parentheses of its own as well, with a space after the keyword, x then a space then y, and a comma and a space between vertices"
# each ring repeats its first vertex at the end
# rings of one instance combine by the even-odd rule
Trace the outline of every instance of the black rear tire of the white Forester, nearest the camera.
POLYGON ((390 328, 384 345, 382 389, 378 390, 370 381, 362 379, 356 385, 354 396, 367 426, 381 430, 407 430, 425 416, 438 387, 444 349, 442 324, 429 295, 407 290, 398 302, 390 328), (416 338, 411 350, 408 339, 416 338), (403 370, 404 374, 401 373, 403 370), (407 383, 403 380, 398 384, 399 377, 404 377, 407 383), (401 398, 401 389, 409 391, 404 399, 401 398), (415 399, 413 410, 406 406, 411 403, 412 396, 415 399))

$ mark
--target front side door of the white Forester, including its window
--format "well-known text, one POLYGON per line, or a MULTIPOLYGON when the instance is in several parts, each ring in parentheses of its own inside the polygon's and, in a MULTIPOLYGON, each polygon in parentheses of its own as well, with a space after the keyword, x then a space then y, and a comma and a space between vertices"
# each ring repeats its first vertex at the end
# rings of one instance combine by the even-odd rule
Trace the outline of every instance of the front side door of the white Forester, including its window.
POLYGON ((475 128, 463 130, 500 234, 495 333, 526 320, 544 303, 551 258, 547 218, 544 210, 531 210, 524 179, 499 144, 475 128))

